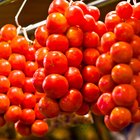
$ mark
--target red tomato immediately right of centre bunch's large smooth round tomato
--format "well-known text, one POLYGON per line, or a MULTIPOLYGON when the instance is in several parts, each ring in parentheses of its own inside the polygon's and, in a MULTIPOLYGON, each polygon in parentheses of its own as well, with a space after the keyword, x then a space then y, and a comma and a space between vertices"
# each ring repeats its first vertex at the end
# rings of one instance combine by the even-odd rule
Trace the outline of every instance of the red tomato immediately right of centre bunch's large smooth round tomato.
POLYGON ((82 87, 83 78, 78 68, 69 67, 64 76, 68 81, 69 88, 80 89, 82 87))

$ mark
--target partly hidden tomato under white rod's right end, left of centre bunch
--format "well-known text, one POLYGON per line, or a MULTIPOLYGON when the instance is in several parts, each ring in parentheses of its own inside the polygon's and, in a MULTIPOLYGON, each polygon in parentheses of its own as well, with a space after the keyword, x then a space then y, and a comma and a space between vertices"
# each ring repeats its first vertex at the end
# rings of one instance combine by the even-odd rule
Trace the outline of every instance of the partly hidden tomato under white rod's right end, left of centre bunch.
POLYGON ((35 39, 38 41, 38 43, 45 47, 46 46, 46 40, 49 36, 49 32, 46 28, 46 25, 42 25, 36 28, 35 30, 35 39))

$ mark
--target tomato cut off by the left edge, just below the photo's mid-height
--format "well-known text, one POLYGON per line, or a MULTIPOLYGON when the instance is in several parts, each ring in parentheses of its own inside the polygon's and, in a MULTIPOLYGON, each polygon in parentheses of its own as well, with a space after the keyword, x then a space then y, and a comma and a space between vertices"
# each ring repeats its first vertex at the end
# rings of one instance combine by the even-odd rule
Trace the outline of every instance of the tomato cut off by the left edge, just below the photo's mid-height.
POLYGON ((10 80, 3 75, 0 75, 0 93, 6 93, 10 88, 10 80))

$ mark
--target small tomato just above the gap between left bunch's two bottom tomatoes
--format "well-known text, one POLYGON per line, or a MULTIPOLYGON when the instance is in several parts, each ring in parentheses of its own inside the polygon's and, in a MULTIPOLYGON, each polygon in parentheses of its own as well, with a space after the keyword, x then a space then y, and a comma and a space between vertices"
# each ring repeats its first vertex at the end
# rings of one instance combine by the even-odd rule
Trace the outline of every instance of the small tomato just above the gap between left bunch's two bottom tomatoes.
POLYGON ((35 112, 33 109, 25 108, 22 110, 20 121, 22 121, 24 124, 33 124, 35 121, 35 112))

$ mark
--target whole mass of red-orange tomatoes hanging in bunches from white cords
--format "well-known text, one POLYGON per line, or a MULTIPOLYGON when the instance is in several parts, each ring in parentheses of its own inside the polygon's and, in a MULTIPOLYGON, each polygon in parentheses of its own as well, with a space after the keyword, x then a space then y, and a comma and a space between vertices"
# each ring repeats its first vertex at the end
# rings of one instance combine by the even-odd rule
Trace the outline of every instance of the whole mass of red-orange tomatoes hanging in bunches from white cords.
POLYGON ((1 28, 1 126, 43 136, 45 119, 89 111, 113 131, 140 122, 140 3, 119 2, 99 18, 95 6, 54 0, 33 44, 1 28))

